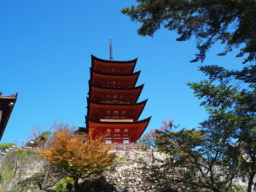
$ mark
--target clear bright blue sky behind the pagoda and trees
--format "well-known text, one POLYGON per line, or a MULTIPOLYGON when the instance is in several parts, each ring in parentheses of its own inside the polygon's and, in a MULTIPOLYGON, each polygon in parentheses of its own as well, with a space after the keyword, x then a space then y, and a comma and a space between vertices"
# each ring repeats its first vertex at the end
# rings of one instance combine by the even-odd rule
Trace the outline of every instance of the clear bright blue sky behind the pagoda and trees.
MULTIPOLYGON (((13 0, 0 1, 0 90, 19 97, 1 143, 22 143, 32 127, 42 131, 58 121, 84 126, 90 79, 90 55, 113 59, 138 58, 145 84, 139 102, 148 98, 140 119, 152 116, 147 131, 162 119, 193 128, 207 118, 200 101, 186 85, 204 76, 201 63, 191 64, 195 40, 176 42, 177 34, 161 29, 154 38, 137 35, 138 23, 120 10, 134 1, 13 0)), ((235 53, 220 57, 216 44, 204 64, 241 66, 235 53)), ((146 132, 147 132, 146 131, 146 132)))

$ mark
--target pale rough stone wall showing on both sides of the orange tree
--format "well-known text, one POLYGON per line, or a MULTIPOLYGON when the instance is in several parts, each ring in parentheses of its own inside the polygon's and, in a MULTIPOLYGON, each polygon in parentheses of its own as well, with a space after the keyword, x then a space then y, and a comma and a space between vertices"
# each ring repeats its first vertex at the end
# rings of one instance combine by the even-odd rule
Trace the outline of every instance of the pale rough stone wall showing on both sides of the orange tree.
MULTIPOLYGON (((9 158, 9 154, 11 154, 15 150, 20 150, 20 148, 10 148, 7 152, 0 154, 0 170, 2 170, 4 175, 4 168, 6 165, 6 160, 9 158)), ((138 151, 138 150, 116 150, 113 151, 116 154, 116 158, 113 162, 113 165, 108 167, 108 171, 104 172, 104 182, 108 183, 104 187, 104 192, 109 191, 113 192, 137 192, 137 191, 147 191, 153 192, 158 191, 154 185, 145 182, 145 176, 147 172, 144 172, 143 167, 152 165, 152 153, 151 151, 138 151), (110 190, 111 189, 111 190, 110 190)), ((163 154, 154 152, 154 158, 163 159, 163 154)), ((155 160, 154 160, 155 161, 155 160)), ((157 162, 155 162, 157 163, 157 162)), ((0 191, 8 191, 9 184, 13 179, 12 185, 15 186, 17 183, 27 183, 28 189, 29 186, 32 186, 31 191, 35 190, 36 187, 33 185, 37 185, 36 182, 33 183, 30 177, 35 176, 38 173, 38 176, 42 177, 44 174, 44 162, 42 159, 39 159, 35 156, 28 157, 22 165, 18 167, 17 174, 13 179, 11 175, 9 177, 4 177, 4 183, 0 184, 0 191)), ((35 178, 37 180, 38 178, 35 178)), ((96 183, 102 184, 102 180, 96 181, 96 183)), ((40 190, 42 191, 42 190, 40 190)), ((96 191, 96 190, 91 190, 96 191)))

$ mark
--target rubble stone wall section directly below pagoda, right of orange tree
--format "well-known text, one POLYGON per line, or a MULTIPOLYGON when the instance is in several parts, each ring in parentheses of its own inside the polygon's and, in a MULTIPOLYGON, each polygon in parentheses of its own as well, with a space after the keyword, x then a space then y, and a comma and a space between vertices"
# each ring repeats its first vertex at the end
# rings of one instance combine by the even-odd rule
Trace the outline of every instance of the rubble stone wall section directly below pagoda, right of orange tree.
POLYGON ((113 184, 118 192, 159 191, 156 186, 147 181, 146 170, 152 165, 153 160, 155 165, 160 163, 158 160, 163 160, 166 156, 158 152, 154 152, 153 156, 151 151, 116 151, 112 169, 104 173, 106 181, 113 184))

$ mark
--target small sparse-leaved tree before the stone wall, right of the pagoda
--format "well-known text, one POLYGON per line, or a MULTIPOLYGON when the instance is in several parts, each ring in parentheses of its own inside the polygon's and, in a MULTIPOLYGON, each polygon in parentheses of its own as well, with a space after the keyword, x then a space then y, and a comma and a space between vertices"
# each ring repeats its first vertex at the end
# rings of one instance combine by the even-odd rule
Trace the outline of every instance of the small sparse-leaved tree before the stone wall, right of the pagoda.
POLYGON ((162 189, 235 191, 232 182, 238 169, 227 158, 230 152, 225 143, 208 137, 206 131, 180 130, 172 124, 156 133, 159 150, 169 154, 162 166, 153 167, 151 176, 157 177, 156 183, 162 189))

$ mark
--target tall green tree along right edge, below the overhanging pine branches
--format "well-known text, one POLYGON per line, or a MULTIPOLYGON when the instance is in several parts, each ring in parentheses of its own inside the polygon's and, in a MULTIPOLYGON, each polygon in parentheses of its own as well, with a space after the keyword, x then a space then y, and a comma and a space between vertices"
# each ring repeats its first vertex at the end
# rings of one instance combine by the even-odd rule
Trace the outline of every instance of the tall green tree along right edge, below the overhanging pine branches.
POLYGON ((255 66, 241 71, 223 67, 200 67, 209 80, 191 83, 195 96, 209 113, 201 123, 208 137, 221 143, 225 159, 239 167, 239 175, 247 180, 247 192, 252 191, 256 175, 256 73, 255 66))

